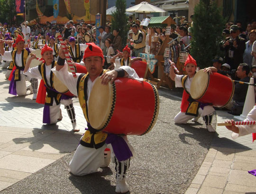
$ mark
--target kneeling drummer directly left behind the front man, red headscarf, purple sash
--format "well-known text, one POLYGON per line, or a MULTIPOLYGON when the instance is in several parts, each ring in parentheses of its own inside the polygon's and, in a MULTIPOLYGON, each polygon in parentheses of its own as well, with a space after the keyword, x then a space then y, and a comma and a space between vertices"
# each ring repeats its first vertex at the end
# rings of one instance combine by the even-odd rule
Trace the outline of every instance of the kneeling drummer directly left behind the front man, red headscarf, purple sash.
POLYGON ((23 73, 32 78, 43 79, 45 82, 47 96, 45 100, 43 123, 53 124, 57 123, 58 120, 61 120, 62 115, 60 106, 63 104, 73 125, 73 132, 79 132, 79 129, 76 129, 72 97, 60 94, 54 89, 54 79, 51 69, 56 65, 56 62, 53 59, 53 49, 45 45, 41 51, 43 63, 30 69, 29 66, 31 61, 36 58, 35 54, 31 55, 32 57, 28 59, 23 73))

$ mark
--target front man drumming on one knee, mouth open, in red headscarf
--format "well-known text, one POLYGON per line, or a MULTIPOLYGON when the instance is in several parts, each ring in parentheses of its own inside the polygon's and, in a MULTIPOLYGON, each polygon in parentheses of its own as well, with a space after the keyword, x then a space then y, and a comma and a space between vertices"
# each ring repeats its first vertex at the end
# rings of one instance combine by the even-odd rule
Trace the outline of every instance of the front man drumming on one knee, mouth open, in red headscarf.
MULTIPOLYGON (((128 66, 122 66, 117 70, 103 71, 103 53, 101 48, 94 43, 88 43, 88 47, 83 56, 85 67, 89 73, 76 73, 77 78, 73 78, 72 73, 67 71, 68 67, 64 58, 63 50, 60 49, 58 64, 56 65, 56 69, 54 68, 52 71, 74 95, 78 96, 84 116, 87 120, 86 112, 88 101, 90 99, 91 88, 96 78, 101 76, 102 84, 107 84, 109 81, 112 83, 117 77, 128 76, 130 78, 138 78, 136 72, 128 66)), ((83 134, 80 145, 70 162, 70 171, 74 175, 83 176, 97 172, 100 167, 107 167, 109 162, 104 161, 104 150, 107 148, 106 142, 111 143, 115 153, 113 159, 116 163, 117 170, 116 192, 126 193, 129 188, 126 184, 125 176, 129 168, 130 157, 134 156, 134 150, 128 143, 126 136, 118 136, 102 131, 96 132, 95 129, 91 127, 90 123, 88 123, 88 130, 83 134), (114 146, 111 139, 118 139, 118 141, 122 141, 122 144, 119 147, 114 146), (121 154, 115 152, 116 149, 119 150, 121 154)))

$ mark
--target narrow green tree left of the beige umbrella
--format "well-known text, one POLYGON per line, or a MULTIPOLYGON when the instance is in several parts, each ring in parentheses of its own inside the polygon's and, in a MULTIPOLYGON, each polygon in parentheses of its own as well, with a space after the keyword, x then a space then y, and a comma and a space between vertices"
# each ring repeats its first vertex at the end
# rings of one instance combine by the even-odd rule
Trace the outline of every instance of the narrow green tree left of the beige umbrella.
POLYGON ((126 44, 127 33, 128 33, 128 18, 126 17, 126 0, 117 0, 116 1, 116 11, 113 13, 112 19, 112 30, 119 29, 119 35, 122 38, 123 45, 126 44))

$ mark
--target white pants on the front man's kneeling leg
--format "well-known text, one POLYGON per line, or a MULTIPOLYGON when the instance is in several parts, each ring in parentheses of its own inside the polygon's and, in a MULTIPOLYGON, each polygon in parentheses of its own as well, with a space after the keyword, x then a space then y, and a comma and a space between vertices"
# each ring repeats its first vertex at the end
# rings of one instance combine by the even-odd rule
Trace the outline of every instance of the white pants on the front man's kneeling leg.
POLYGON ((99 149, 87 148, 79 144, 69 163, 70 172, 77 176, 97 172, 98 168, 104 165, 104 150, 106 148, 107 144, 99 149))

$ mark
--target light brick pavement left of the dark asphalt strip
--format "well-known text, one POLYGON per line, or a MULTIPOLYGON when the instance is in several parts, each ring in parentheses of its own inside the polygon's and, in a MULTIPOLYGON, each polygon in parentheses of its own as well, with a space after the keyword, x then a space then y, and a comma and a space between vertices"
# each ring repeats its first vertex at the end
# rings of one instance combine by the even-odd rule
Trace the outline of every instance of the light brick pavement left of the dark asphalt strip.
POLYGON ((43 105, 29 94, 8 94, 5 71, 0 69, 0 191, 75 150, 87 124, 77 99, 74 108, 79 133, 72 132, 63 105, 62 121, 43 124, 43 105))

